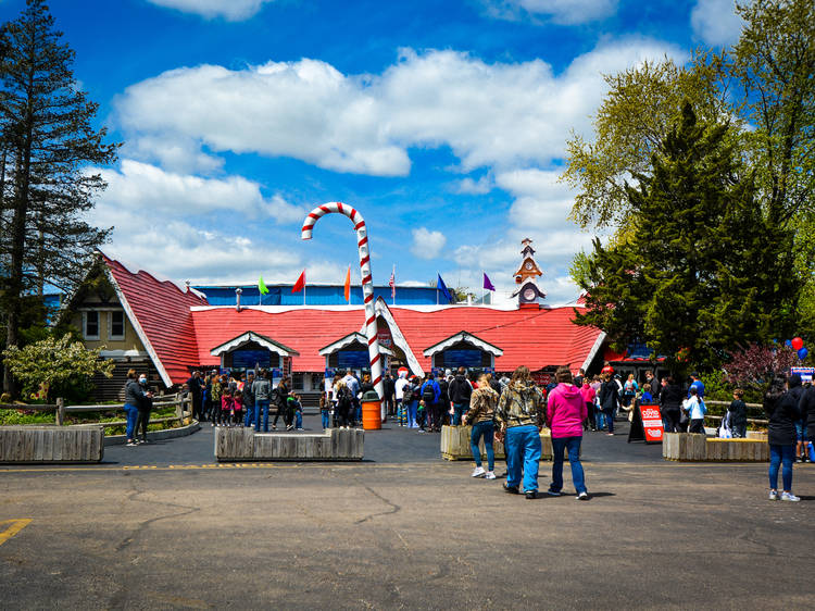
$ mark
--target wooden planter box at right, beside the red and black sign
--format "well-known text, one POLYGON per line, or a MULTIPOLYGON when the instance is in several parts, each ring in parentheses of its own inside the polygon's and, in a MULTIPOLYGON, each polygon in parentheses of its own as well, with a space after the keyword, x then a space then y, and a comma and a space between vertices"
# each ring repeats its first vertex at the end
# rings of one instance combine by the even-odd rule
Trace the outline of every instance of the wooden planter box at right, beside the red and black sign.
POLYGON ((762 439, 719 439, 691 433, 666 433, 662 441, 665 460, 707 462, 767 462, 769 446, 762 439))

